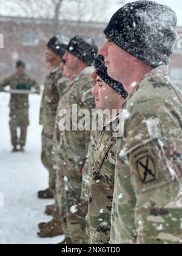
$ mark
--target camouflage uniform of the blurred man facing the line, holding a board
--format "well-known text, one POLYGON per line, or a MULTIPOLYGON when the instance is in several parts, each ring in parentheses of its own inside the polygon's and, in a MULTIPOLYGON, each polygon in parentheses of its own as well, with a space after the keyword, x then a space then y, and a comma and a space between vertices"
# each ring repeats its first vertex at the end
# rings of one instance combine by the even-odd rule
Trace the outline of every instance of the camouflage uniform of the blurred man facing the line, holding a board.
MULTIPOLYGON (((27 74, 15 73, 12 76, 4 79, 0 84, 0 90, 10 86, 13 89, 31 90, 35 88, 39 93, 39 86, 35 80, 31 79, 27 74)), ((10 132, 12 137, 12 145, 20 144, 25 146, 27 137, 27 127, 29 126, 29 94, 11 94, 10 98, 10 132), (21 129, 21 137, 18 140, 17 128, 21 129)))

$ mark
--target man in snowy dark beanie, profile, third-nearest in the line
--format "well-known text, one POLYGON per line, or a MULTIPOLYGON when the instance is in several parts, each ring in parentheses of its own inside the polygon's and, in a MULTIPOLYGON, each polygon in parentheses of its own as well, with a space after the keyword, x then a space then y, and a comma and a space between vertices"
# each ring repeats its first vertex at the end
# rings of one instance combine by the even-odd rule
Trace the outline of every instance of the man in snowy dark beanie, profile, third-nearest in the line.
MULTIPOLYGON (((75 110, 84 108, 92 112, 94 99, 92 97, 93 62, 98 48, 95 42, 86 36, 76 36, 70 40, 64 55, 67 69, 72 71, 72 84, 64 99, 59 102, 59 118, 57 124, 57 194, 59 211, 62 220, 62 231, 66 233, 63 243, 87 243, 85 216, 87 202, 81 199, 82 174, 81 169, 86 161, 90 140, 90 130, 73 128, 75 110), (76 108, 76 109, 73 109, 76 108), (60 111, 70 115, 69 129, 62 129, 60 111)), ((77 115, 77 113, 76 113, 77 115)), ((80 118, 81 119, 81 118, 80 118)), ((79 121, 79 119, 78 119, 79 121)), ((64 127, 63 127, 64 128, 64 127)))

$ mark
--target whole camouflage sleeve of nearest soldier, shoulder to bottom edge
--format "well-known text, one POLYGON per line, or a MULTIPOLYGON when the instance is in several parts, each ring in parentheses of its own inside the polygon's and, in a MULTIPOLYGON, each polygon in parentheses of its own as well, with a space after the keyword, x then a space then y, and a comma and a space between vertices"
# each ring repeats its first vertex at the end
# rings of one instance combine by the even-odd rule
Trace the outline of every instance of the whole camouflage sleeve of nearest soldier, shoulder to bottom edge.
POLYGON ((136 195, 137 243, 181 243, 182 110, 170 93, 170 100, 138 100, 126 121, 120 157, 136 195))

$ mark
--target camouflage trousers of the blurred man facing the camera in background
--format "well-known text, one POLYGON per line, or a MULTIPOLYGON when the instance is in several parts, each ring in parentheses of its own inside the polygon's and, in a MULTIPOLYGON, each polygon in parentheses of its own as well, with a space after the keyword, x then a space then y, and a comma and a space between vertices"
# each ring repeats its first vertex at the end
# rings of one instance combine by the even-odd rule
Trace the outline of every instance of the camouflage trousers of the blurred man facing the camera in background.
POLYGON ((12 145, 20 144, 25 146, 27 138, 27 127, 29 126, 29 108, 10 108, 10 133, 12 145), (17 129, 20 128, 18 138, 17 129))

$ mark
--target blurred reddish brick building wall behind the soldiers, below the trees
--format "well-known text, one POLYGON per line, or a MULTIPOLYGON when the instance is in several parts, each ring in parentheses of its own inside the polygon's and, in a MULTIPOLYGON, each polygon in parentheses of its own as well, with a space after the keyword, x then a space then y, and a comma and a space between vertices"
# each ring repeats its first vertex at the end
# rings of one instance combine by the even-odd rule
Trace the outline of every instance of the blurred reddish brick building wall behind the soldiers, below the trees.
MULTIPOLYGON (((54 35, 52 23, 49 23, 49 21, 41 21, 41 23, 36 21, 35 23, 34 20, 30 19, 20 20, 19 18, 0 17, 0 34, 4 36, 4 49, 0 49, 1 79, 15 71, 16 59, 22 59, 27 64, 27 73, 35 77, 39 84, 44 82, 48 72, 45 68, 44 51, 47 41, 54 35), (24 32, 24 30, 27 30, 28 33, 24 32), (35 37, 38 38, 36 46, 24 45, 25 34, 28 34, 27 37, 29 37, 29 32, 33 32, 35 37)), ((87 23, 79 24, 78 26, 76 23, 65 21, 60 24, 60 30, 57 34, 67 35, 70 38, 76 34, 89 35, 100 46, 104 41, 104 26, 98 26, 97 24, 94 24, 94 26, 92 27, 87 23)))

